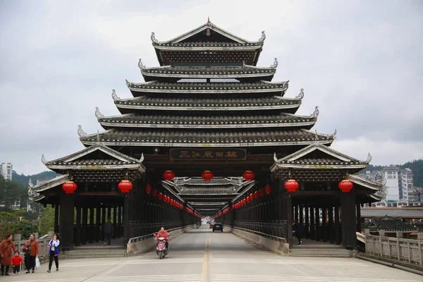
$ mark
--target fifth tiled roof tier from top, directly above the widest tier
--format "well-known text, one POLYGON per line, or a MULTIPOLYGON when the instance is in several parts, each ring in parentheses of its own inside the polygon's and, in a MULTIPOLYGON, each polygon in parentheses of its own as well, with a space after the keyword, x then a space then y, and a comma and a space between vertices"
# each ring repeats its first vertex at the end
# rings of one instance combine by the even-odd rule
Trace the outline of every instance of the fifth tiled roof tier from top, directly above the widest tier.
MULTIPOLYGON (((290 114, 269 116, 159 116, 135 115, 103 117, 99 122, 106 127, 175 127, 180 128, 222 128, 249 125, 251 127, 314 125, 316 117, 294 116, 290 114)), ((308 127, 310 128, 310 126, 308 127)))

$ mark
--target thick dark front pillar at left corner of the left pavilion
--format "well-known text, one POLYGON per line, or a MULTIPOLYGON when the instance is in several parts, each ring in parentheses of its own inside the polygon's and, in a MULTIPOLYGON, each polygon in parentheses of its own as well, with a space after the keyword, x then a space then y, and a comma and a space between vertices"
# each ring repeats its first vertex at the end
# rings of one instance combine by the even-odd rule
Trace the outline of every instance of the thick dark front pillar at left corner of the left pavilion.
POLYGON ((73 216, 75 195, 63 194, 60 196, 59 233, 61 236, 61 250, 69 250, 73 246, 73 216))

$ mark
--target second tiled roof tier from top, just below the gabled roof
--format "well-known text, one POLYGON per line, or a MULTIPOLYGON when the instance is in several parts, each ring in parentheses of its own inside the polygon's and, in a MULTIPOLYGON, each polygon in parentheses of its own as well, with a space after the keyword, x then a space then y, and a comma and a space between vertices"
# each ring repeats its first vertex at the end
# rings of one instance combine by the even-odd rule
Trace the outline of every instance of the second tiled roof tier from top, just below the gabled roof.
POLYGON ((276 68, 256 68, 252 66, 245 67, 220 67, 220 68, 199 68, 199 67, 161 67, 161 68, 142 68, 142 75, 149 76, 162 76, 162 75, 173 75, 175 77, 186 78, 187 75, 195 75, 194 77, 201 75, 204 78, 212 77, 219 78, 221 76, 231 76, 236 78, 238 76, 245 75, 274 75, 276 68))

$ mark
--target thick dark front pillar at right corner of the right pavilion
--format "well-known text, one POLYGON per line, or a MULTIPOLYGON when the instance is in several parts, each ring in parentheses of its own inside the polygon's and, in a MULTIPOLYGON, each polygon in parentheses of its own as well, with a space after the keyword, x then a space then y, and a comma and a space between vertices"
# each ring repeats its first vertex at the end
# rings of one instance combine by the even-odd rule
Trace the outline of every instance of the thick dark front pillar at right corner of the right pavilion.
POLYGON ((357 229, 355 223, 355 194, 354 192, 343 192, 341 194, 341 233, 342 245, 345 248, 355 250, 357 247, 357 229))

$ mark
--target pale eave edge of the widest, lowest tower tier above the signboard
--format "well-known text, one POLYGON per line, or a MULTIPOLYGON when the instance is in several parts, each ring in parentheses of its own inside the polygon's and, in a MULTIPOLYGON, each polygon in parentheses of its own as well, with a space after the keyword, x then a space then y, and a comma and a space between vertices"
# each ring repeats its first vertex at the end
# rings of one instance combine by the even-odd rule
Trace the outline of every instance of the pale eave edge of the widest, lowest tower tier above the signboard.
MULTIPOLYGON (((95 141, 83 140, 80 141, 83 145, 94 145, 95 141)), ((124 142, 124 141, 102 141, 102 144, 107 146, 161 146, 161 147, 264 147, 264 146, 291 146, 291 145, 310 145, 314 140, 293 140, 293 141, 274 141, 274 142, 124 142)), ((333 140, 320 140, 320 144, 328 145, 333 140)))

